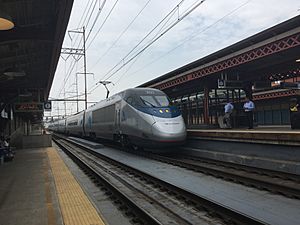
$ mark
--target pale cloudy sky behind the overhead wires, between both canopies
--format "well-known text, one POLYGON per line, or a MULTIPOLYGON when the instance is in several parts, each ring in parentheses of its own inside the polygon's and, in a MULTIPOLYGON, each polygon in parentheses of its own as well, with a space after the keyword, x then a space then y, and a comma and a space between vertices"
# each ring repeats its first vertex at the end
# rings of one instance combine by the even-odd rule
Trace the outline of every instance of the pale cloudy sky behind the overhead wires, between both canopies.
MULTIPOLYGON (((74 0, 63 48, 83 48, 82 33, 73 31, 84 26, 91 105, 106 96, 99 81, 112 82, 111 95, 136 87, 299 14, 298 0, 74 0)), ((76 96, 76 77, 84 98, 83 62, 61 54, 50 98, 76 96)), ((77 111, 75 102, 64 107, 53 102, 45 116, 77 111)))

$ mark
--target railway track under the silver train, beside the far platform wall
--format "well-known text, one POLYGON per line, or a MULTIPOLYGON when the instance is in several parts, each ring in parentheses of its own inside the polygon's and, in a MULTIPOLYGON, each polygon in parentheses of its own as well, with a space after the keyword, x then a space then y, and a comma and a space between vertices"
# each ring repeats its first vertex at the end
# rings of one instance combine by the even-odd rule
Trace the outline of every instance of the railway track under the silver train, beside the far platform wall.
POLYGON ((194 156, 178 157, 148 153, 145 156, 235 183, 300 199, 300 177, 297 175, 194 156))

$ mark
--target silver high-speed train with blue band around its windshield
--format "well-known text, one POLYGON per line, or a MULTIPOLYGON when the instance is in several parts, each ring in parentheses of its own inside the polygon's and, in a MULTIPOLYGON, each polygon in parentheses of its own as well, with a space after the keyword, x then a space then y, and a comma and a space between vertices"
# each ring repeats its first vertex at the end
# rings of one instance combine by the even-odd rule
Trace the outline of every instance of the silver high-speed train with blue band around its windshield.
POLYGON ((182 144, 186 127, 168 97, 152 88, 132 88, 115 94, 66 119, 49 130, 102 138, 135 148, 164 148, 182 144))

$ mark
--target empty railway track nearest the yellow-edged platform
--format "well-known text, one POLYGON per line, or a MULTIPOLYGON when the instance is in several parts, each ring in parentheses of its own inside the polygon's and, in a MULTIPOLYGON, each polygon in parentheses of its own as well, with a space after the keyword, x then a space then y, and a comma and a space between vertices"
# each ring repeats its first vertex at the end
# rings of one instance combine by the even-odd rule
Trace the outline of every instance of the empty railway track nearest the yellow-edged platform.
POLYGON ((60 138, 55 142, 133 224, 264 224, 82 146, 60 138))

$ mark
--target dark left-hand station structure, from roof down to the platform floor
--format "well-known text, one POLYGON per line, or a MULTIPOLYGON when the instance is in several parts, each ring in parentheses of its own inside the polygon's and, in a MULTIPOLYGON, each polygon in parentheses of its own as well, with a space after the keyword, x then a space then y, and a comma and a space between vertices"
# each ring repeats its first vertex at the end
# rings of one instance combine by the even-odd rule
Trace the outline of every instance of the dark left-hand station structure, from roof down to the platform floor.
POLYGON ((72 5, 73 0, 0 2, 0 135, 13 145, 41 132, 72 5))

